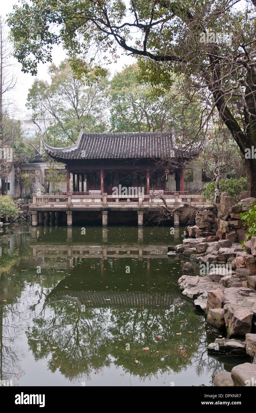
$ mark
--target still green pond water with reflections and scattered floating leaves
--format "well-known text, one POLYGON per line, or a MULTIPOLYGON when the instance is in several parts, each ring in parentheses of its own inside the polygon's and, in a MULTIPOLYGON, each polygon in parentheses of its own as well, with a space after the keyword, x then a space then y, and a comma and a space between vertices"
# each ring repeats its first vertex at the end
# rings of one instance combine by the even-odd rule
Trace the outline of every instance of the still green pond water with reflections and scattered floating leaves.
POLYGON ((214 337, 166 254, 183 230, 5 227, 2 385, 212 386, 230 371, 237 359, 207 355, 214 337))

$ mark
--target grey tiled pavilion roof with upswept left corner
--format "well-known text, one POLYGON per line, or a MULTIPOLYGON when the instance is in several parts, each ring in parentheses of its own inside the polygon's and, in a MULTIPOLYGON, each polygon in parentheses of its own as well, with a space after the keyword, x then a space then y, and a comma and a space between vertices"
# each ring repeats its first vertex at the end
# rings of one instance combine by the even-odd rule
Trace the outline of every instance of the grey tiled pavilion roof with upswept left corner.
POLYGON ((69 147, 53 148, 43 142, 47 154, 59 159, 164 158, 174 143, 171 132, 84 133, 69 147))

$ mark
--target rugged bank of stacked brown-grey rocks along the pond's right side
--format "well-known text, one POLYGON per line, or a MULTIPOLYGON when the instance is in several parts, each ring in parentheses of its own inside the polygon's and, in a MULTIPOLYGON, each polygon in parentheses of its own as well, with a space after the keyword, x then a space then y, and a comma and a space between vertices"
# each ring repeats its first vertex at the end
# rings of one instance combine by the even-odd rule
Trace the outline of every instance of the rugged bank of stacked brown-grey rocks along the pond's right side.
POLYGON ((256 380, 256 237, 241 247, 245 228, 238 215, 249 210, 251 202, 256 199, 247 197, 233 205, 224 192, 218 209, 200 211, 196 225, 186 229, 185 236, 193 238, 176 246, 184 259, 178 280, 181 294, 204 312, 209 331, 217 337, 207 348, 209 354, 251 361, 231 373, 218 373, 214 386, 256 386, 251 381, 256 380))

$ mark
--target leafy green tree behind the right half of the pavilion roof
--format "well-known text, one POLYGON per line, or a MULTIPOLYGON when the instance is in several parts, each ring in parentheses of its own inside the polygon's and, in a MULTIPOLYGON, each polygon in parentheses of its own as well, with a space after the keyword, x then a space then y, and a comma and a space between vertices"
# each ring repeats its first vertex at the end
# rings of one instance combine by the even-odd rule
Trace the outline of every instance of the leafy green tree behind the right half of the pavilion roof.
POLYGON ((113 132, 155 132, 174 128, 190 140, 200 127, 201 108, 191 102, 183 88, 182 76, 164 95, 152 93, 150 83, 139 80, 139 66, 126 66, 110 82, 108 90, 113 132))

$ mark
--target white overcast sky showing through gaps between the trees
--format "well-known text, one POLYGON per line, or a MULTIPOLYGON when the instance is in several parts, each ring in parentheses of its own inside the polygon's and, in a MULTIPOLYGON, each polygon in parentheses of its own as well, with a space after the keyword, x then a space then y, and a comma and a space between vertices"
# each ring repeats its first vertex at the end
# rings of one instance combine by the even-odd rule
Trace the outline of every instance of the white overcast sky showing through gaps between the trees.
MULTIPOLYGON (((20 4, 18 0, 8 0, 4 1, 1 0, 1 9, 0 14, 5 19, 7 14, 12 12, 12 7, 14 4, 20 4)), ((53 63, 59 65, 59 63, 65 59, 66 54, 61 46, 54 46, 53 47, 53 63)), ((118 60, 116 64, 108 65, 108 69, 110 70, 111 74, 114 74, 115 71, 121 71, 124 64, 132 64, 135 62, 133 57, 125 57, 122 56, 121 59, 118 60)), ((31 74, 25 74, 21 72, 21 64, 19 64, 16 59, 14 59, 15 63, 15 73, 17 76, 17 83, 15 89, 9 95, 9 98, 12 98, 16 101, 16 105, 19 108, 19 115, 16 114, 16 118, 24 119, 24 117, 28 117, 28 111, 26 109, 26 98, 28 95, 28 89, 31 87, 35 76, 31 76, 31 74)), ((37 78, 44 79, 49 81, 50 77, 47 73, 47 69, 50 64, 39 64, 38 65, 38 75, 37 78)))

